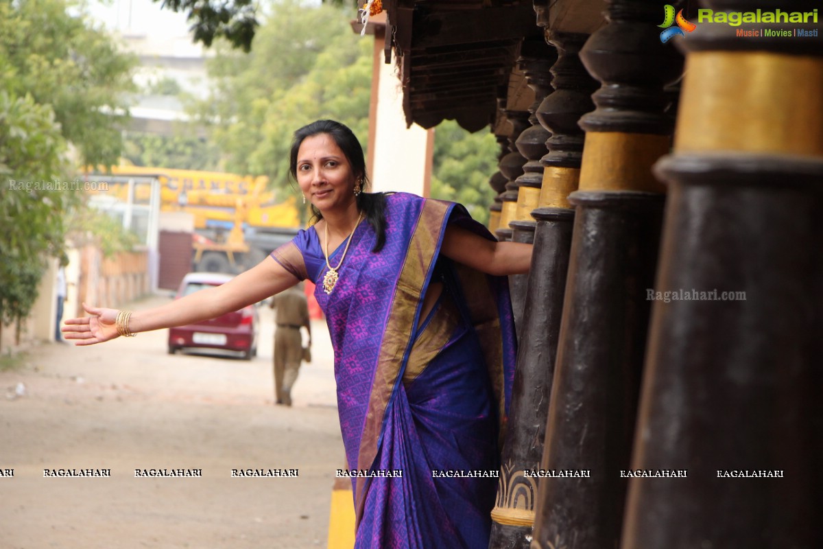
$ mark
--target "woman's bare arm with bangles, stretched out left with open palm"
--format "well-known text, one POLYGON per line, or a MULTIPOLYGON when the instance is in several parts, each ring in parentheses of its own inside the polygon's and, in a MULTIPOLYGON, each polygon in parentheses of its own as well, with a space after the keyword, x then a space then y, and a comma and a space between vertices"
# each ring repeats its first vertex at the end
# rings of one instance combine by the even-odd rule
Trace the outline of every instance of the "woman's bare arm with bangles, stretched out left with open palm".
MULTIPOLYGON (((221 314, 264 300, 296 283, 297 278, 291 272, 268 257, 221 286, 196 291, 160 307, 135 311, 129 319, 128 328, 132 333, 148 332, 215 319, 221 314)), ((85 303, 83 308, 91 316, 68 319, 63 327, 66 339, 76 340, 75 345, 93 345, 118 337, 115 326, 117 309, 89 307, 85 303)))

